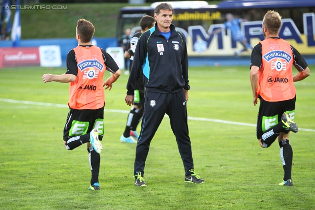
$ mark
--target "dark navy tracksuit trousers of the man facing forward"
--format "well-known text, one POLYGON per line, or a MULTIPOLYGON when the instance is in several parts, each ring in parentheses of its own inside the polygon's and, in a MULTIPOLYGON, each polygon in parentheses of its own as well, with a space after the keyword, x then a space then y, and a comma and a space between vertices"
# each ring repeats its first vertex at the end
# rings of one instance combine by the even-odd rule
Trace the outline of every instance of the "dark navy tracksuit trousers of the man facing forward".
POLYGON ((165 113, 169 116, 172 131, 176 137, 178 150, 183 160, 185 175, 191 175, 193 169, 191 144, 187 123, 187 106, 185 92, 156 93, 147 92, 142 118, 142 128, 139 135, 136 158, 134 162, 134 175, 144 174, 145 161, 148 156, 151 140, 165 113))

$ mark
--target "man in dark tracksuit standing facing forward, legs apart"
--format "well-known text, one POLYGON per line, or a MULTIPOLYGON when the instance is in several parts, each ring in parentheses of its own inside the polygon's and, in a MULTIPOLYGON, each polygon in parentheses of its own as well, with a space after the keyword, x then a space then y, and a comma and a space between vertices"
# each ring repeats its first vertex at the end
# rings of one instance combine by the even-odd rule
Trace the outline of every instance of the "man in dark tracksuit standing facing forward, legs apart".
POLYGON ((131 105, 136 81, 143 70, 147 95, 134 163, 137 186, 147 186, 143 179, 145 161, 151 140, 165 113, 169 116, 184 163, 185 181, 205 182, 193 168, 186 107, 190 88, 187 47, 183 33, 171 24, 172 16, 173 8, 168 3, 160 3, 155 8, 157 23, 140 36, 127 83, 126 103, 131 105))

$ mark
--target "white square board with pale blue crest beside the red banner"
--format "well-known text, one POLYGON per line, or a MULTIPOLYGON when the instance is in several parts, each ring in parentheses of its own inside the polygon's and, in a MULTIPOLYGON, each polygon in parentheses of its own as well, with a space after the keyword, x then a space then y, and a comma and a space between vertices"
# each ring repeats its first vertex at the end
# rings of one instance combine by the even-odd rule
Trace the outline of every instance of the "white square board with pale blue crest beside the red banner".
POLYGON ((59 67, 62 65, 59 45, 39 46, 40 66, 59 67))

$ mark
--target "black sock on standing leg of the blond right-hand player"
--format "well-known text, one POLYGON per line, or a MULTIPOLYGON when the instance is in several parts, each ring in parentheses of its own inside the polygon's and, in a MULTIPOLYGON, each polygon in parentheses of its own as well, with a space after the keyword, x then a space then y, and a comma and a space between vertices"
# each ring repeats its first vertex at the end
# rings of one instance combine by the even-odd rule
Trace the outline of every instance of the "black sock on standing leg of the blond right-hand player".
POLYGON ((288 139, 279 142, 280 157, 284 166, 284 181, 291 180, 293 150, 288 139))

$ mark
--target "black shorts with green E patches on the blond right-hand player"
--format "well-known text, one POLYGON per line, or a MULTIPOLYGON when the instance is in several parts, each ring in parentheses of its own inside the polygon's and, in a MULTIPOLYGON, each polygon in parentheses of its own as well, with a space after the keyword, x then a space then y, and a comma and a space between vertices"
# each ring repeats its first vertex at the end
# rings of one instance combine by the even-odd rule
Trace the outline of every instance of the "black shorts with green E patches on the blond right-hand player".
POLYGON ((279 102, 268 102, 260 99, 259 111, 257 116, 256 135, 261 139, 262 134, 269 128, 281 122, 281 116, 286 112, 290 119, 294 119, 296 96, 290 100, 279 102))

